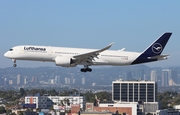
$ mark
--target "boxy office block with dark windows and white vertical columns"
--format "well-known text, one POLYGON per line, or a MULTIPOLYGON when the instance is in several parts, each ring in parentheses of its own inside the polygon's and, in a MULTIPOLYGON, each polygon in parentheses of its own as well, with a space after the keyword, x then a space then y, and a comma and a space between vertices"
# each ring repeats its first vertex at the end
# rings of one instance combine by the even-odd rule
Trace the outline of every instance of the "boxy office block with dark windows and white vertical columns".
POLYGON ((121 102, 156 102, 157 84, 154 81, 124 81, 112 83, 113 101, 121 102))

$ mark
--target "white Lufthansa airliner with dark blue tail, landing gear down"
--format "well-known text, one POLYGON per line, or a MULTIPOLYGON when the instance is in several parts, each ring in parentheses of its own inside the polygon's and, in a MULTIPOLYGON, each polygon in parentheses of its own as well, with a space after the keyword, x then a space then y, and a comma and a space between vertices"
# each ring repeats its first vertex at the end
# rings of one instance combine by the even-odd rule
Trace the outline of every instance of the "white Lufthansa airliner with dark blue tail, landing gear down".
POLYGON ((89 66, 93 65, 124 66, 165 60, 169 55, 161 55, 161 53, 171 34, 164 33, 143 52, 124 51, 125 48, 108 50, 113 43, 102 49, 20 45, 11 48, 4 56, 12 59, 14 67, 17 66, 16 60, 30 60, 55 62, 56 66, 62 67, 83 65, 81 72, 91 72, 89 66))

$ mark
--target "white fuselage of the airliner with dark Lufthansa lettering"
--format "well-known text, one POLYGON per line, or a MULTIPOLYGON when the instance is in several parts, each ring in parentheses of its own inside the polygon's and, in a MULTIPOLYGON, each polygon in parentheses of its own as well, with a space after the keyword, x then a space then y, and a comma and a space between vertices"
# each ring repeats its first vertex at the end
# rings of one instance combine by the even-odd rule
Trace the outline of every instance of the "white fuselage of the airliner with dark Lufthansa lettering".
MULTIPOLYGON (((13 47, 7 51, 4 56, 15 60, 55 62, 55 58, 58 56, 73 59, 73 56, 96 50, 97 49, 23 45, 13 47)), ((141 53, 122 50, 106 50, 93 58, 92 63, 89 65, 130 65, 140 54, 141 53)), ((84 62, 81 61, 78 62, 78 64, 84 65, 84 62)))

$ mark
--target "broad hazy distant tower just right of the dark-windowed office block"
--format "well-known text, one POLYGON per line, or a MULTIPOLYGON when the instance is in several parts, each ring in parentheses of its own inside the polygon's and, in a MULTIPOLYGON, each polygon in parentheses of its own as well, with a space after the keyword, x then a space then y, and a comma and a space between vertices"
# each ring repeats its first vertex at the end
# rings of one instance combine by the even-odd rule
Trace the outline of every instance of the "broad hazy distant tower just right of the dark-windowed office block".
POLYGON ((171 79, 171 72, 169 69, 162 70, 162 86, 169 86, 169 80, 171 79))

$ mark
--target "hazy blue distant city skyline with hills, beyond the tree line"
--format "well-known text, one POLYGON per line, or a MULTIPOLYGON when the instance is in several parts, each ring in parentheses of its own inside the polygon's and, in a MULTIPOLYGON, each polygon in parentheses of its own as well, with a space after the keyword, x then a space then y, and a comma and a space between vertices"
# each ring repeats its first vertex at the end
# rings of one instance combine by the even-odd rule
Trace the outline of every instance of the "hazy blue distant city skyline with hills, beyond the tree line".
POLYGON ((5 90, 17 90, 19 87, 56 90, 77 88, 81 91, 91 89, 92 91, 105 90, 109 92, 111 82, 120 79, 129 81, 156 80, 160 92, 169 88, 178 91, 180 87, 180 67, 149 68, 147 66, 134 66, 119 67, 118 69, 116 67, 99 68, 95 69, 94 73, 91 74, 78 72, 78 69, 67 68, 64 71, 61 68, 59 70, 58 67, 18 68, 18 70, 11 67, 0 69, 0 73, 0 88, 5 90))

